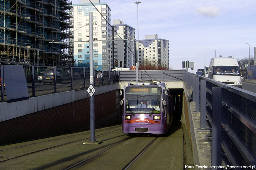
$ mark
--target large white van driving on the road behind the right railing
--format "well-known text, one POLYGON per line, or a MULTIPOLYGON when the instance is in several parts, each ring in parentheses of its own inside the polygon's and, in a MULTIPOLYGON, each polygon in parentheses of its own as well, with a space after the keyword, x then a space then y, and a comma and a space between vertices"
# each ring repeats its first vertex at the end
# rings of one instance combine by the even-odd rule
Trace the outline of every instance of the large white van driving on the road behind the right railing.
POLYGON ((241 74, 236 58, 212 58, 208 78, 242 88, 241 74))

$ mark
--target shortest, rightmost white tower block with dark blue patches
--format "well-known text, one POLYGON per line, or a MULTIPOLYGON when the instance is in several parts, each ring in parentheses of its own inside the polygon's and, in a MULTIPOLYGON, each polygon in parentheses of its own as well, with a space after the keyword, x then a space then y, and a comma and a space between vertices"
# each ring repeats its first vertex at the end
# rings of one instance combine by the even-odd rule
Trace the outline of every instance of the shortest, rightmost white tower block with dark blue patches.
POLYGON ((156 34, 145 35, 145 39, 139 40, 137 48, 139 63, 169 67, 169 40, 158 38, 156 34))

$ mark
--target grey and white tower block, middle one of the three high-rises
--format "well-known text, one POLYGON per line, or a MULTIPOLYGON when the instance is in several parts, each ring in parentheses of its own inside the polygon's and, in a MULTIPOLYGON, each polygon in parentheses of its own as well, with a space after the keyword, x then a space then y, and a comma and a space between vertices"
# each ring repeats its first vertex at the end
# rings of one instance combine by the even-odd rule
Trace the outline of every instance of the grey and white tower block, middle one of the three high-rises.
MULTIPOLYGON (((130 68, 136 65, 135 29, 124 24, 124 21, 113 20, 114 28, 114 58, 123 61, 123 68, 130 68)), ((113 48, 111 42, 111 49, 113 48)), ((113 49, 111 50, 113 58, 113 49)), ((113 63, 113 62, 111 62, 113 63)))

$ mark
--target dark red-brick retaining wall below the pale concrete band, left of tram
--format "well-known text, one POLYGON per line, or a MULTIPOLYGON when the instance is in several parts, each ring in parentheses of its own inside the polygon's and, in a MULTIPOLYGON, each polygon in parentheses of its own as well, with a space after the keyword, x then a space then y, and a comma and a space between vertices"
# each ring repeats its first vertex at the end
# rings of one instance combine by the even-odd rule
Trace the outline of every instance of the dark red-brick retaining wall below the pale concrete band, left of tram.
MULTIPOLYGON (((95 122, 117 112, 117 91, 95 96, 95 122)), ((0 123, 0 145, 87 130, 90 125, 89 101, 86 98, 3 121, 0 123)), ((119 123, 118 118, 109 121, 119 123)))

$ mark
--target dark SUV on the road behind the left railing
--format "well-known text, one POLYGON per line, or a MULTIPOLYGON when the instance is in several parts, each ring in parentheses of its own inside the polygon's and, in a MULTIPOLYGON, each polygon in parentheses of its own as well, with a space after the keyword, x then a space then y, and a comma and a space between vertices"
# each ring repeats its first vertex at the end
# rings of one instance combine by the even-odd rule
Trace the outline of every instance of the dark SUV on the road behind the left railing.
POLYGON ((62 82, 62 76, 60 75, 60 72, 57 70, 56 75, 54 75, 54 70, 53 69, 44 69, 43 71, 43 79, 42 82, 43 84, 45 83, 50 83, 52 84, 54 82, 54 79, 57 79, 57 83, 62 82))

